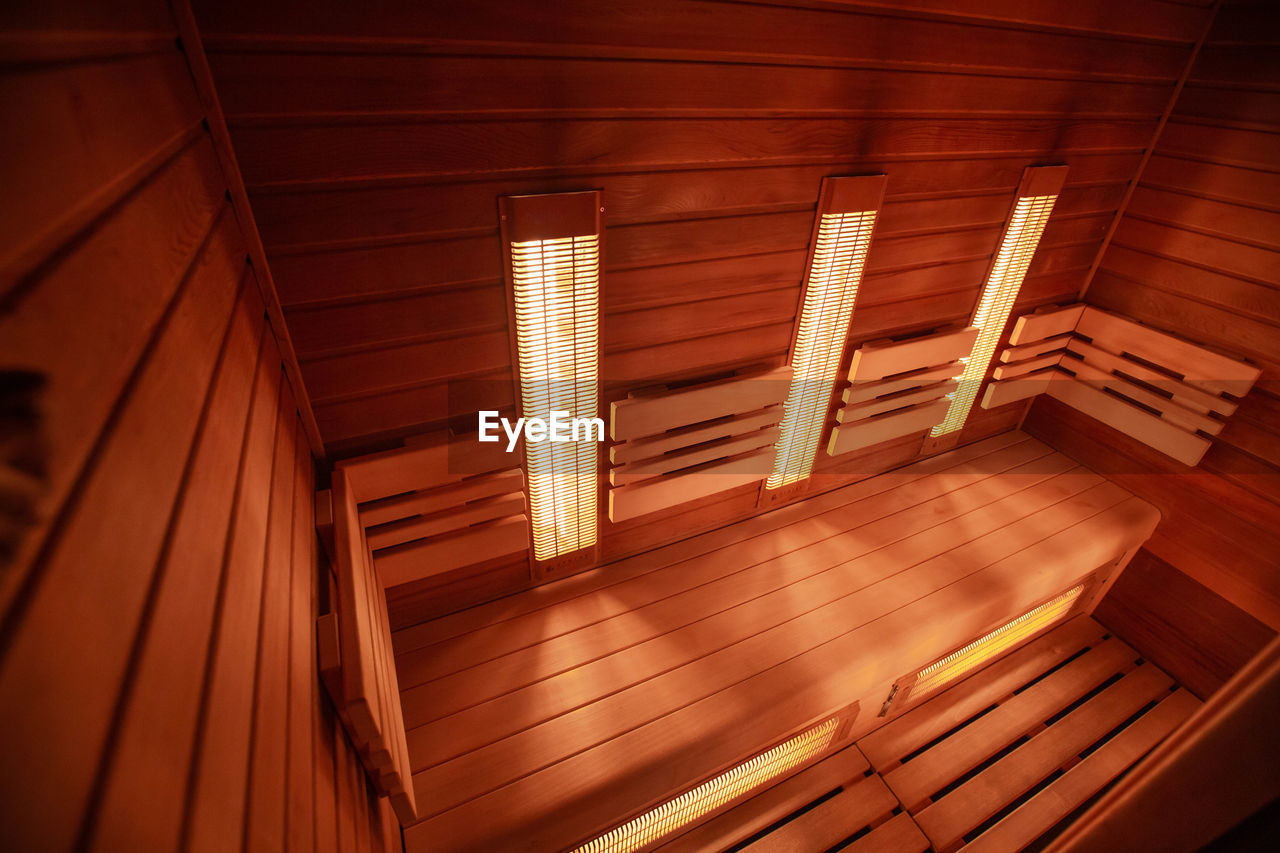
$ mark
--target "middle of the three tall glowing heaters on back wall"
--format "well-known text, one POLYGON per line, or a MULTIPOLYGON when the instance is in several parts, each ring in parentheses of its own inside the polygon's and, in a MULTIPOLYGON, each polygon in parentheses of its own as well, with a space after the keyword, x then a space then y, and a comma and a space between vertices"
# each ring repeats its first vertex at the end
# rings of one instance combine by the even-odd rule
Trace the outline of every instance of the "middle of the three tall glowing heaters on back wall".
POLYGON ((813 471, 883 199, 884 175, 823 181, 804 306, 791 350, 791 391, 765 488, 797 483, 813 471))

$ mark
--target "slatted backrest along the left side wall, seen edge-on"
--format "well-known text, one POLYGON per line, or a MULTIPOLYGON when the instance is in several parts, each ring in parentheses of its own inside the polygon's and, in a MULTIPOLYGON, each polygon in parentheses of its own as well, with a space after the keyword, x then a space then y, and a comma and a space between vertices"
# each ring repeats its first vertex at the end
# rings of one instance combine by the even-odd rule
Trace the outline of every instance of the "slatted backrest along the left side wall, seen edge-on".
POLYGON ((358 523, 351 482, 333 475, 335 612, 319 625, 321 670, 369 777, 401 824, 417 820, 387 598, 358 523), (334 638, 332 633, 337 633, 334 638), (337 658, 337 660, 334 660, 337 658), (333 667, 337 666, 337 676, 333 667))

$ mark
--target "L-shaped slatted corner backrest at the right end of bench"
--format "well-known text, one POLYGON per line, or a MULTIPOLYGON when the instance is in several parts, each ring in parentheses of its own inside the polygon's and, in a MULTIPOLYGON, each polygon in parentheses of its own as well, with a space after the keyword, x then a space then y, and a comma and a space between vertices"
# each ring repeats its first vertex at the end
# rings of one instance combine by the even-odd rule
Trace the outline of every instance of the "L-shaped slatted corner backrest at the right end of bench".
POLYGON ((1235 412, 1261 371, 1085 305, 1020 318, 983 407, 1048 393, 1187 465, 1235 412))

